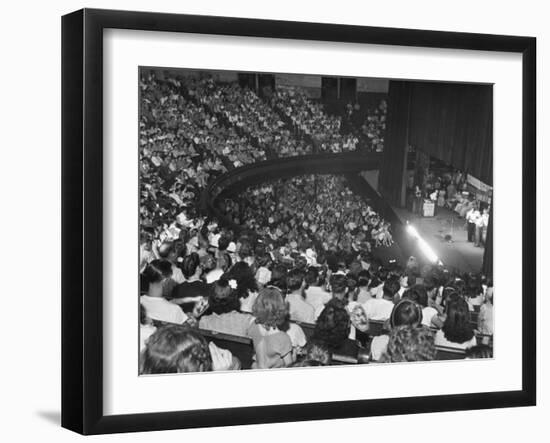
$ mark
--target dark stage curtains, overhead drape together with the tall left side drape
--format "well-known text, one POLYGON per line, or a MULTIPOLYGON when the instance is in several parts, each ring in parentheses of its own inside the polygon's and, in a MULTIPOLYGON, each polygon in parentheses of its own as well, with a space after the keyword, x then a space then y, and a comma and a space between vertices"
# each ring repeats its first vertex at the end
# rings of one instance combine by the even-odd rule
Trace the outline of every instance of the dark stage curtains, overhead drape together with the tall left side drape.
POLYGON ((492 85, 390 81, 380 189, 396 205, 409 145, 492 186, 492 85))

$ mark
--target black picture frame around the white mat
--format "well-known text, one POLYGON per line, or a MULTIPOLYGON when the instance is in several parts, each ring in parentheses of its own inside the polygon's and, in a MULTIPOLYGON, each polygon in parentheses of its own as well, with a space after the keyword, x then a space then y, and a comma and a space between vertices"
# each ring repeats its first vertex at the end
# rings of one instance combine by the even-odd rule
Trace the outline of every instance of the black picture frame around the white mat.
POLYGON ((62 18, 62 426, 82 434, 536 404, 536 39, 504 35, 83 9, 62 18), (522 388, 517 391, 103 413, 103 30, 192 32, 522 54, 522 388))

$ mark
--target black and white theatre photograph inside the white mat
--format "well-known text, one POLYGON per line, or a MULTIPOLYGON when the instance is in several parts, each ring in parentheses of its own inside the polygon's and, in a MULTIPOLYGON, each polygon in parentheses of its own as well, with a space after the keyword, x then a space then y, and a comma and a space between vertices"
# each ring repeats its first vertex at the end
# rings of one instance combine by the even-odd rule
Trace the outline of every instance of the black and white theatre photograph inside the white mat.
POLYGON ((492 84, 138 75, 140 375, 496 358, 492 84))

